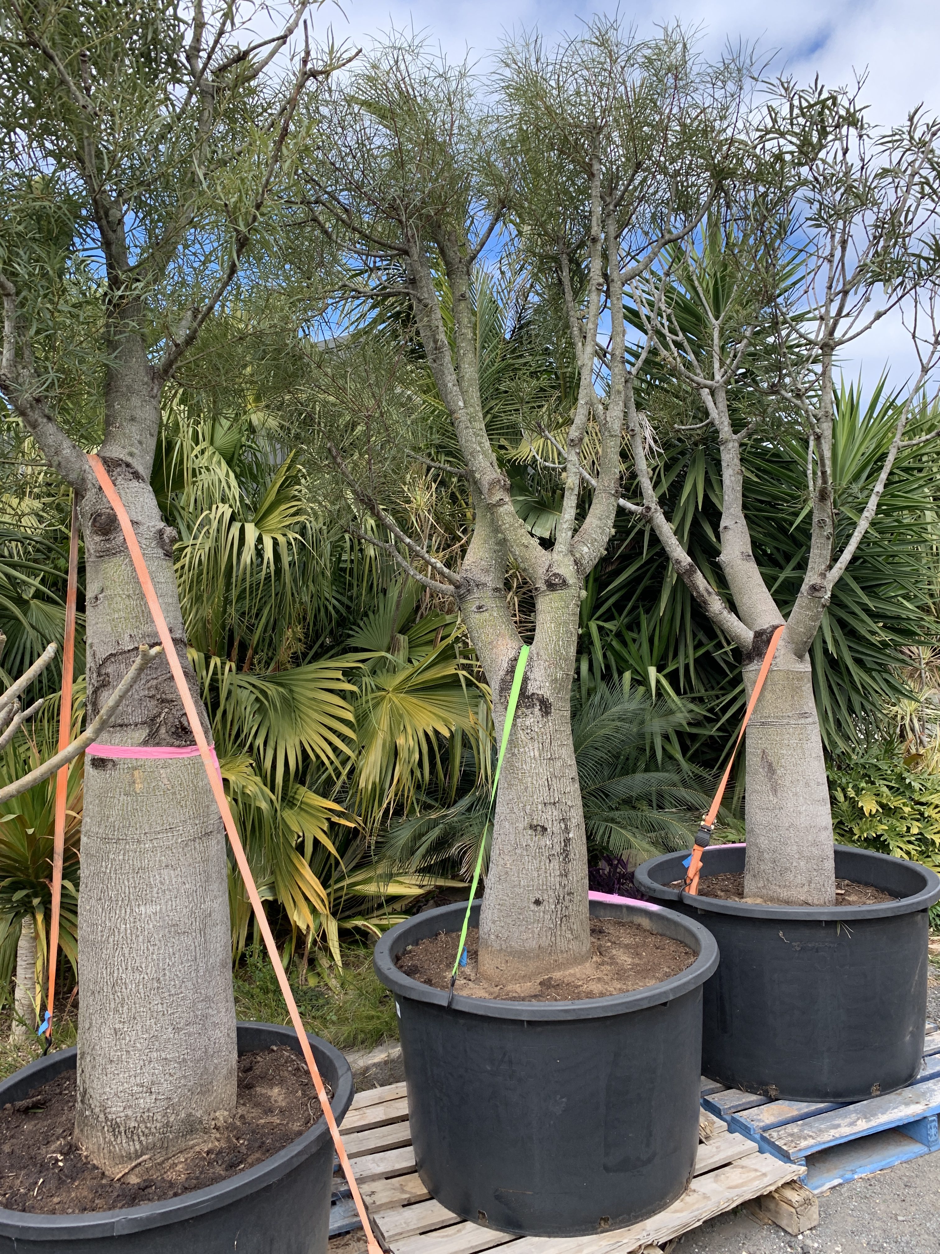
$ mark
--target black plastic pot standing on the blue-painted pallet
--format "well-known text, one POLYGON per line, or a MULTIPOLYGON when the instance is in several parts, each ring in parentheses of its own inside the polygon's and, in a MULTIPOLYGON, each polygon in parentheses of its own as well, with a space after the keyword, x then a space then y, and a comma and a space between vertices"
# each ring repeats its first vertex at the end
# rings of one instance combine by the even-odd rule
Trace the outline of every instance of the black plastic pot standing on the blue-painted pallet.
MULTIPOLYGON (((920 1070, 927 998, 926 867, 836 845, 836 875, 897 898, 881 905, 752 905, 689 897, 686 854, 653 858, 637 887, 703 923, 721 949, 704 986, 702 1071, 729 1088, 796 1101, 859 1101, 920 1070)), ((703 875, 744 869, 744 845, 716 845, 703 875)))

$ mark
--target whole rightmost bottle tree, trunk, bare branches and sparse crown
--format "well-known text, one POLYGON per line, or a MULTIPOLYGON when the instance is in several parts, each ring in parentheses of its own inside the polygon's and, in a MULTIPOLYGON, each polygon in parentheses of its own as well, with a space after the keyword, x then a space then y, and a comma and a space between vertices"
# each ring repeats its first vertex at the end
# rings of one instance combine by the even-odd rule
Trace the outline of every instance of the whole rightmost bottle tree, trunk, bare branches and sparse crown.
MULTIPOLYGON (((875 517, 899 453, 936 446, 927 389, 940 361, 940 123, 871 127, 854 90, 777 83, 748 134, 747 177, 694 237, 627 288, 640 334, 627 384, 627 433, 642 503, 677 574, 738 646, 751 691, 775 630, 786 630, 747 730, 744 895, 835 903, 832 818, 808 651, 832 589, 875 517), (833 472, 838 354, 896 311, 917 370, 896 398, 894 434, 865 499, 833 472), (666 400, 664 400, 666 398, 666 400), (721 451, 719 563, 734 609, 702 574, 666 517, 638 410, 678 405, 678 430, 712 429, 721 451), (905 439, 916 426, 917 435, 905 439), (742 444, 802 436, 812 540, 796 601, 781 607, 758 569, 746 510, 742 444), (841 514, 841 517, 840 517, 841 514), (846 523, 849 525, 846 525, 846 523), (847 532, 847 535, 846 535, 847 532), (836 552, 836 534, 845 537, 836 552), (783 608, 788 613, 782 612, 783 608)), ((673 409, 673 424, 674 409, 673 409)), ((766 567, 766 562, 761 562, 766 567)), ((783 572, 781 572, 783 573, 783 572)))

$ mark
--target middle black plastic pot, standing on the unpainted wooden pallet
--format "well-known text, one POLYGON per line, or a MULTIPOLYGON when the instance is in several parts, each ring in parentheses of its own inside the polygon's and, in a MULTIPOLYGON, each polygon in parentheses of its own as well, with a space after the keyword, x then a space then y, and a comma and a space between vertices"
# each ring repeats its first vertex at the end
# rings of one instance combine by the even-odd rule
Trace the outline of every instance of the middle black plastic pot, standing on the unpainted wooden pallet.
MULTIPOLYGON (((623 1228, 686 1190, 698 1144, 702 983, 708 932, 639 902, 592 903, 689 946, 659 984, 583 1002, 447 994, 404 976, 406 946, 460 928, 465 905, 400 923, 375 949, 395 993, 411 1139, 421 1180, 465 1219, 501 1231, 575 1236, 623 1228)), ((479 904, 471 915, 476 925, 479 904)))

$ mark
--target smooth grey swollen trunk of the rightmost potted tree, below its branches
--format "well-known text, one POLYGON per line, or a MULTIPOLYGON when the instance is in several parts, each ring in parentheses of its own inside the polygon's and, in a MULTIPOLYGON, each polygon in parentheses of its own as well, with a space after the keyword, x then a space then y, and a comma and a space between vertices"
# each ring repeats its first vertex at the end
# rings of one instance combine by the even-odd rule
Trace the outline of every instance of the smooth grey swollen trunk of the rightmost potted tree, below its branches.
MULTIPOLYGON (((744 663, 748 696, 760 667, 760 657, 744 663)), ((786 647, 786 636, 746 744, 744 897, 775 905, 832 905, 832 811, 812 668, 808 657, 797 658, 786 647)))

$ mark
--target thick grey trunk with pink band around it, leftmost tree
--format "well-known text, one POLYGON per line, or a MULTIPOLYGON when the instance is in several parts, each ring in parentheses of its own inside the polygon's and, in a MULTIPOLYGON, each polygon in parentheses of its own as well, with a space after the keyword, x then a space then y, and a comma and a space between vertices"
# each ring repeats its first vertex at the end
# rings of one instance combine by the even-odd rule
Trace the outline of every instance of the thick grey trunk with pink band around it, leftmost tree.
MULTIPOLYGON (((110 450, 113 454, 113 449, 110 450)), ((103 456, 134 524, 189 688, 174 533, 129 460, 103 456)), ((134 461, 149 460, 134 455, 134 461)), ((89 477, 88 717, 157 633, 114 510, 89 477)), ((208 734, 208 721, 203 715, 208 734)), ((194 744, 158 658, 107 734, 110 745, 194 744)), ((236 1102, 236 1021, 224 829, 202 761, 89 756, 79 897, 79 1142, 105 1170, 173 1151, 236 1102)))

